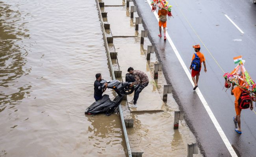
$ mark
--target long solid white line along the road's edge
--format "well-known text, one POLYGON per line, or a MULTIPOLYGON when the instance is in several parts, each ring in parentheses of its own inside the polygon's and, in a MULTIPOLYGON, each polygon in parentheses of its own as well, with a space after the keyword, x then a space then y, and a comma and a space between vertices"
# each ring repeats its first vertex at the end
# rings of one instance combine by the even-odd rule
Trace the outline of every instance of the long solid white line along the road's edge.
MULTIPOLYGON (((150 0, 147 0, 147 1, 148 1, 149 6, 151 6, 150 5, 151 4, 150 0)), ((154 15, 156 16, 156 19, 159 21, 158 15, 156 14, 156 11, 154 12, 154 15)), ((171 44, 171 47, 173 48, 173 51, 174 51, 176 57, 178 58, 180 64, 182 65, 182 68, 184 69, 185 73, 187 74, 188 79, 190 80, 192 86, 194 87, 194 82, 191 78, 191 74, 189 73, 189 70, 188 70, 186 64, 184 63, 183 59, 181 58, 180 53, 176 49, 176 46, 174 45, 173 40, 171 40, 171 37, 169 36, 167 31, 166 31, 166 37, 168 39, 168 42, 171 44)), ((230 155, 232 157, 237 157, 236 152, 234 151, 230 142, 228 141, 228 138, 226 137, 224 131, 221 128, 221 126, 219 125, 219 122, 217 121, 217 119, 213 115, 213 112, 211 111, 210 106, 208 105, 206 100, 204 99, 204 96, 202 95, 200 89, 197 88, 196 92, 197 92, 197 95, 198 95, 199 99, 201 100, 202 104, 204 105, 205 110, 207 111, 208 115, 210 116, 211 121, 213 122, 215 128, 217 129, 219 135, 221 136, 221 139, 223 140, 224 144, 226 145, 226 148, 228 149, 230 155)))

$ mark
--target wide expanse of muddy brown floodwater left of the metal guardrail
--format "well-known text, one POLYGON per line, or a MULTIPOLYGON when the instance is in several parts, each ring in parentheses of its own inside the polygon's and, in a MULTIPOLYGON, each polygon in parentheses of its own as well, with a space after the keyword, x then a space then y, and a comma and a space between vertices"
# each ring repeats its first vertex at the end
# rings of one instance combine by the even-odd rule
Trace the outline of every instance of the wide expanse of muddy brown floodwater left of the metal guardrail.
POLYGON ((125 157, 119 115, 84 115, 106 58, 94 0, 0 1, 0 156, 125 157))

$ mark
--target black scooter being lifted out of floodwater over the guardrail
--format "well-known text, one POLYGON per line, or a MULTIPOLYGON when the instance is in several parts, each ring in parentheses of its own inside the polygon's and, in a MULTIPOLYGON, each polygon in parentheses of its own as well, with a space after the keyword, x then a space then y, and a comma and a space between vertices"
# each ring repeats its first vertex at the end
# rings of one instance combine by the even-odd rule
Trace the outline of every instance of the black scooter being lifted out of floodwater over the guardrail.
POLYGON ((126 81, 127 82, 120 82, 119 80, 107 81, 102 79, 100 82, 101 86, 98 88, 103 89, 105 88, 104 84, 108 83, 107 88, 114 89, 118 95, 114 100, 110 100, 109 95, 103 95, 102 99, 95 101, 85 110, 85 114, 96 115, 98 113, 105 113, 106 115, 111 115, 122 101, 124 95, 130 95, 134 92, 134 87, 130 87, 132 82, 135 81, 133 75, 126 75, 126 81))

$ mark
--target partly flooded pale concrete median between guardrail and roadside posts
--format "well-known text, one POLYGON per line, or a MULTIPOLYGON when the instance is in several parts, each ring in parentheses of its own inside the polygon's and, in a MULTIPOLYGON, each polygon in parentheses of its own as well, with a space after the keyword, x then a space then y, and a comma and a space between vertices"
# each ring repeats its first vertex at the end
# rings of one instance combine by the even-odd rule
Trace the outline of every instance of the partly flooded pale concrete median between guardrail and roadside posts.
MULTIPOLYGON (((109 43, 109 49, 117 52, 117 58, 112 58, 113 67, 122 71, 122 80, 125 80, 130 66, 145 72, 149 79, 148 86, 140 93, 137 108, 128 108, 127 101, 134 94, 128 95, 127 100, 121 103, 125 119, 134 119, 133 128, 127 128, 132 152, 144 152, 144 157, 186 156, 187 144, 195 143, 196 139, 184 120, 180 121, 178 130, 173 129, 174 110, 178 110, 178 105, 172 94, 168 94, 167 102, 162 100, 166 81, 161 71, 158 73, 158 80, 153 78, 154 64, 158 60, 155 54, 151 54, 150 61, 146 59, 147 46, 151 43, 144 38, 144 45, 140 44, 141 30, 144 28, 139 24, 139 31, 135 31, 137 13, 134 13, 134 18, 130 18, 130 7, 126 8, 124 0, 103 1, 105 7, 101 10, 108 13, 107 21, 111 30, 109 36, 113 37, 113 44, 109 43)), ((130 2, 130 6, 132 5, 134 4, 130 2)))

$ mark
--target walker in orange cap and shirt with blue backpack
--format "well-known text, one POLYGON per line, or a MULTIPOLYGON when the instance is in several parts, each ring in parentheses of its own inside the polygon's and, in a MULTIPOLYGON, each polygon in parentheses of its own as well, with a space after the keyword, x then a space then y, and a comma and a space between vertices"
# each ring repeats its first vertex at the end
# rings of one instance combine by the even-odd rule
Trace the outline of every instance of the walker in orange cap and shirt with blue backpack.
POLYGON ((200 53, 200 45, 194 45, 193 48, 195 49, 196 53, 193 54, 192 62, 191 62, 189 69, 192 69, 191 76, 192 76, 192 80, 195 84, 195 87, 193 88, 195 90, 198 87, 198 79, 199 79, 200 71, 202 68, 202 62, 204 63, 204 72, 205 73, 206 73, 207 69, 206 69, 204 54, 200 53), (196 77, 196 79, 195 79, 195 77, 196 77))

